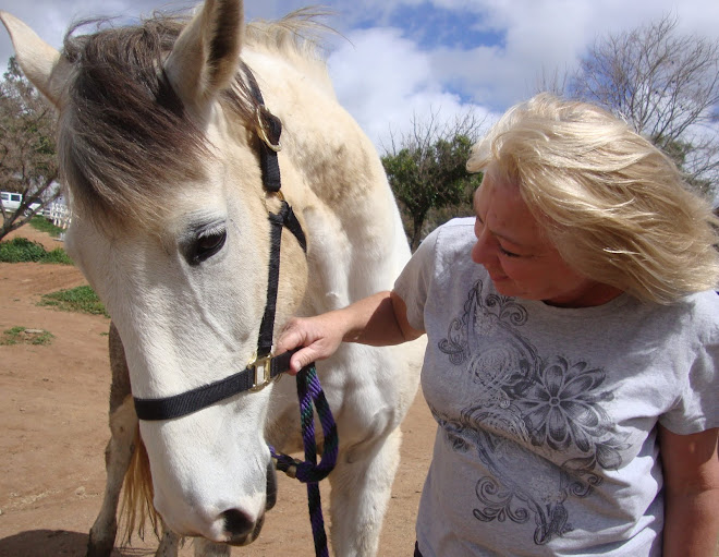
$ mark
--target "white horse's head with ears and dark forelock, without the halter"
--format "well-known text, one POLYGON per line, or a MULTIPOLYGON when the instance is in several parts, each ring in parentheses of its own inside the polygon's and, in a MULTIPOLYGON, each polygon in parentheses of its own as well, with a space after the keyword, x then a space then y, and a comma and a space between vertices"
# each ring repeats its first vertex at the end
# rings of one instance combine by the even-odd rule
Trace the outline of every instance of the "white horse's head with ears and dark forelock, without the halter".
MULTIPOLYGON (((257 129, 271 116, 239 71, 241 0, 207 0, 188 22, 69 35, 62 52, 10 14, 2 21, 59 111, 68 251, 120 331, 133 396, 164 398, 244 368, 267 300, 268 215, 282 199, 263 187, 257 129)), ((284 197, 303 203, 295 171, 282 172, 284 197)), ((284 234, 278 324, 297 311, 307 269, 284 234)), ((271 391, 141 421, 154 505, 172 530, 231 544, 257 536, 273 501, 271 391)))

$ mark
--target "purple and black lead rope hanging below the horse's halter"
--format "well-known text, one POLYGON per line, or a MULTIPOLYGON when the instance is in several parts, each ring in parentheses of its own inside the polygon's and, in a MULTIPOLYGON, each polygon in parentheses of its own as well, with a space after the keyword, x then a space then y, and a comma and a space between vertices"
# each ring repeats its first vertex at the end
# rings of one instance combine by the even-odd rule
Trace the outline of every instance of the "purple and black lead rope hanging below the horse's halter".
POLYGON ((270 446, 272 458, 277 460, 277 469, 307 484, 307 501, 309 521, 315 541, 315 555, 329 557, 325 519, 319 496, 319 482, 327 477, 337 462, 338 436, 334 417, 327 403, 327 398, 319 384, 317 370, 312 363, 297 374, 297 398, 300 399, 300 420, 302 422, 302 440, 305 446, 305 461, 293 459, 288 455, 275 452, 270 446), (322 426, 322 456, 317 463, 317 445, 315 440, 315 415, 313 404, 317 410, 322 426))

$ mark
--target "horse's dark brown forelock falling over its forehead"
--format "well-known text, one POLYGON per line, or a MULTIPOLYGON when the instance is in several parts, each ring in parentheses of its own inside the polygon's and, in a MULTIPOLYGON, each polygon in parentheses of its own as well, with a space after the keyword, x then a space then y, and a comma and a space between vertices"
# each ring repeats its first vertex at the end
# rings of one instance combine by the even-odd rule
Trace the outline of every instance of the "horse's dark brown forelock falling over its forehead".
POLYGON ((166 190, 198 178, 207 153, 162 72, 183 21, 155 17, 73 36, 88 23, 64 41, 73 71, 60 121, 61 168, 87 217, 149 221, 166 190))

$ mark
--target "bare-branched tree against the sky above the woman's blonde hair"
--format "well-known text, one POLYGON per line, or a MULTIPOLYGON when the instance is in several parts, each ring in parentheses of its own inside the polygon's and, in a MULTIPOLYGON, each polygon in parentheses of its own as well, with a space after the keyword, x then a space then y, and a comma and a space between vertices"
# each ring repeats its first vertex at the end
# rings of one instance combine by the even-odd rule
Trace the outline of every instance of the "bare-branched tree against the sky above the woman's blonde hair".
POLYGON ((620 116, 711 193, 719 185, 719 40, 682 35, 678 23, 665 15, 598 39, 568 89, 620 116))

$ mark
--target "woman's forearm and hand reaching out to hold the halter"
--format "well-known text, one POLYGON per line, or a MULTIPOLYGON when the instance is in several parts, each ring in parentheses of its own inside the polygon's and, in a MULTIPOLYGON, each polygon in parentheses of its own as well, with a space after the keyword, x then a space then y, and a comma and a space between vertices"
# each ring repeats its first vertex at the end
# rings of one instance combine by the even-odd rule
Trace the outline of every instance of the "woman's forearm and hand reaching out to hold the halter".
POLYGON ((424 334, 407 322, 406 305, 394 292, 385 291, 342 310, 290 320, 277 342, 277 353, 305 347, 290 361, 290 373, 332 355, 342 341, 387 347, 414 340, 424 334))

